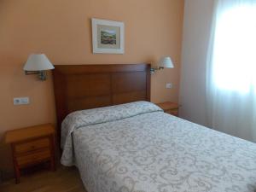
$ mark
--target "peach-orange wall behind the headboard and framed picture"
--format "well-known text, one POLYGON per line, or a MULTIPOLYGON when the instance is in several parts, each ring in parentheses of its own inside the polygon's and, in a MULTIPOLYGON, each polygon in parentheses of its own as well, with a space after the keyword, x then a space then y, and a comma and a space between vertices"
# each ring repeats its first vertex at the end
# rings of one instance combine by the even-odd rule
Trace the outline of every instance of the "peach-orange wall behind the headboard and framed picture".
POLYGON ((52 79, 41 82, 22 71, 29 54, 43 52, 54 64, 141 63, 171 55, 175 68, 152 76, 151 98, 177 102, 182 26, 183 0, 1 0, 0 169, 11 165, 5 131, 55 122, 52 79), (91 53, 91 17, 125 22, 124 55, 91 53), (16 96, 29 96, 31 104, 14 106, 16 96))

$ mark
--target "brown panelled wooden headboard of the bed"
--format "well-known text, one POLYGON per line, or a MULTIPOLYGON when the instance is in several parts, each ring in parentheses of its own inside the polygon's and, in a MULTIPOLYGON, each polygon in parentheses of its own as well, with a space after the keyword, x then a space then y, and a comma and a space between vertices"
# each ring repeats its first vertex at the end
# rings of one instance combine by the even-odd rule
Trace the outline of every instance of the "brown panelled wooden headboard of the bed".
POLYGON ((150 101, 150 64, 56 65, 53 79, 58 140, 68 113, 150 101))

